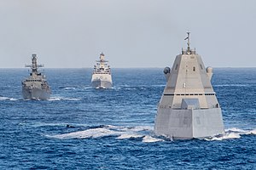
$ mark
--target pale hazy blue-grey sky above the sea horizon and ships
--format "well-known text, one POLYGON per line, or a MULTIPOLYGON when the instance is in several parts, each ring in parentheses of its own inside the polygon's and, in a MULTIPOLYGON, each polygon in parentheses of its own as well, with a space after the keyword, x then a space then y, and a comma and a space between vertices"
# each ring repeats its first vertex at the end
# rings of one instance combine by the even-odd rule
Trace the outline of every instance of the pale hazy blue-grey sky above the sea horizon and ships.
POLYGON ((0 0, 0 68, 172 66, 186 31, 206 66, 256 66, 255 0, 0 0))

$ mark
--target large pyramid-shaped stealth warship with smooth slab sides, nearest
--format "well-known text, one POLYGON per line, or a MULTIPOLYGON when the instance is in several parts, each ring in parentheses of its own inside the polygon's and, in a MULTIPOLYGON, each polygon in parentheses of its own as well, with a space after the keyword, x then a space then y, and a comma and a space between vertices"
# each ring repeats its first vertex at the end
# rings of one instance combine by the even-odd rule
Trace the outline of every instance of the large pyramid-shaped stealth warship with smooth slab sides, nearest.
POLYGON ((218 99, 212 88, 212 68, 188 47, 166 67, 166 88, 154 122, 154 133, 171 139, 204 139, 224 133, 218 99))

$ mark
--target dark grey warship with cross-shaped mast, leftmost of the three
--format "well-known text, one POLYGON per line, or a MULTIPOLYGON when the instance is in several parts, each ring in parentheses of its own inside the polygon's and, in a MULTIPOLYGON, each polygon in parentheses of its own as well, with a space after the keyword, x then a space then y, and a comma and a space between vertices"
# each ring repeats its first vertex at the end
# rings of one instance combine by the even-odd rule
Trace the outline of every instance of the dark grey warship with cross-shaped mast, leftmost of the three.
POLYGON ((25 67, 31 67, 32 72, 21 82, 23 98, 49 99, 51 90, 45 75, 38 72, 38 67, 44 67, 44 65, 37 64, 37 54, 32 54, 32 65, 25 65, 25 67))

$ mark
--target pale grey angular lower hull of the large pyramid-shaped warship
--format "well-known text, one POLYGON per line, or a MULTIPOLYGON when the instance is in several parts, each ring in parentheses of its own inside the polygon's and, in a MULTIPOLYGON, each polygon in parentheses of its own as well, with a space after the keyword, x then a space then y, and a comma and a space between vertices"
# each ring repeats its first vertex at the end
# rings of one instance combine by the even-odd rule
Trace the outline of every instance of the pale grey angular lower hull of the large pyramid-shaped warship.
POLYGON ((154 133, 172 139, 205 139, 224 133, 220 108, 173 110, 158 108, 154 133))

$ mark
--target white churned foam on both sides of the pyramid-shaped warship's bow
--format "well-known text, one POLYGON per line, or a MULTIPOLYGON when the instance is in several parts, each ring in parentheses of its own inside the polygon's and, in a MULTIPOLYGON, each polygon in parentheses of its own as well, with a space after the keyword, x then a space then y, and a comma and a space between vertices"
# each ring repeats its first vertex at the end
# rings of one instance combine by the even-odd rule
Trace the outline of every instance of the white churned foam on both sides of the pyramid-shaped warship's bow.
MULTIPOLYGON (((64 123, 65 124, 65 123, 64 123)), ((61 124, 63 125, 63 124, 61 124)), ((137 126, 137 127, 122 127, 106 125, 101 127, 91 127, 84 131, 73 133, 63 133, 54 136, 48 136, 56 139, 88 139, 88 138, 101 138, 106 136, 117 136, 116 139, 139 139, 142 138, 143 142, 160 142, 164 139, 159 139, 153 134, 153 127, 137 126)), ((224 140, 224 139, 239 139, 241 135, 256 134, 256 129, 243 130, 240 128, 229 128, 225 130, 223 135, 218 135, 205 140, 224 140)))

